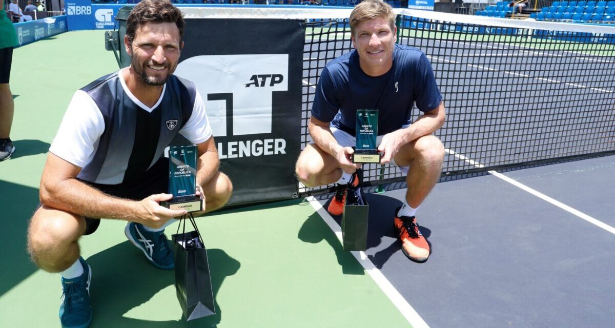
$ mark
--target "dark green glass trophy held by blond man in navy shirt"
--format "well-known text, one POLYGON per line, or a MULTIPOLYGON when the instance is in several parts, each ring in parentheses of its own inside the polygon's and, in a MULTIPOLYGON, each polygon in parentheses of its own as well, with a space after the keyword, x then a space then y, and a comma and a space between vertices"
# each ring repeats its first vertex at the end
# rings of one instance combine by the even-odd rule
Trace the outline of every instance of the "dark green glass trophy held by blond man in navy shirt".
POLYGON ((352 161, 355 163, 379 163, 377 150, 378 110, 357 110, 357 129, 352 161))

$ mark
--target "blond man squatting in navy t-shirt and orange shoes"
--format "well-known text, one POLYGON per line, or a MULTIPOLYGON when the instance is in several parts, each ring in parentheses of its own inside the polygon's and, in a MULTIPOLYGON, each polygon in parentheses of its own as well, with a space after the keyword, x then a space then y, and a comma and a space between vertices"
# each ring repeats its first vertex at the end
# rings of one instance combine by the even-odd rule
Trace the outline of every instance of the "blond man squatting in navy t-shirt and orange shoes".
POLYGON ((351 161, 357 110, 378 110, 381 164, 398 166, 408 185, 403 206, 391 216, 403 253, 423 262, 430 250, 415 213, 442 172, 444 148, 432 135, 445 121, 442 95, 425 54, 395 44, 391 6, 365 0, 349 21, 355 49, 331 60, 320 74, 308 126, 314 143, 301 152, 296 174, 306 186, 338 183, 327 210, 343 214, 347 190, 357 188, 361 177, 360 165, 351 161), (412 122, 415 103, 423 113, 412 122))

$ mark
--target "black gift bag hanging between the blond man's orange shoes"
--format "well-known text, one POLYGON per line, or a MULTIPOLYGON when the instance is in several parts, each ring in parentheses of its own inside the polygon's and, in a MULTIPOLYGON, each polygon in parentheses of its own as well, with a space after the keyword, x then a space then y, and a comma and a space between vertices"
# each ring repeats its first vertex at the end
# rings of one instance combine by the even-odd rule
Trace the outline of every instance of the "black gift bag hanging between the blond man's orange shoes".
POLYGON ((348 188, 342 217, 342 240, 344 250, 367 249, 367 218, 370 207, 361 187, 348 188))

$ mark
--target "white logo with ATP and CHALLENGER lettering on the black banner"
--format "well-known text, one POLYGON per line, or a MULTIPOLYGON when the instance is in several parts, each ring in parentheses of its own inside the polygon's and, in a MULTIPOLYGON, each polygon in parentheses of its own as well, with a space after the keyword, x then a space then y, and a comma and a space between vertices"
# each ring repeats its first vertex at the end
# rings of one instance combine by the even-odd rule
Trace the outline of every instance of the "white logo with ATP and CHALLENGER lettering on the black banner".
POLYGON ((273 93, 288 91, 288 54, 195 56, 175 74, 196 84, 213 136, 226 137, 221 159, 286 153, 286 140, 271 134, 273 93))

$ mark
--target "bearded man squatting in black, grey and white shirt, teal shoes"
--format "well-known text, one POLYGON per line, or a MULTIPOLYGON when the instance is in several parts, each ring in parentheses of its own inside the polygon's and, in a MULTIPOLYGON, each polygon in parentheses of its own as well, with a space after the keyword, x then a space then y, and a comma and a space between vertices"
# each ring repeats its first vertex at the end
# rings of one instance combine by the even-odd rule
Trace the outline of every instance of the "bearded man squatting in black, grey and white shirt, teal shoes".
POLYGON ((130 66, 77 90, 49 149, 41 204, 28 230, 28 251, 42 270, 62 275, 63 327, 92 322, 92 269, 78 240, 100 218, 125 220, 127 238, 156 268, 173 269, 164 228, 185 210, 159 205, 167 194, 164 150, 181 134, 197 145, 197 194, 207 211, 231 197, 218 171, 218 151, 194 84, 173 75, 185 22, 169 1, 145 0, 132 10, 124 43, 130 66))

